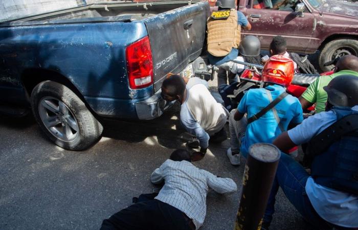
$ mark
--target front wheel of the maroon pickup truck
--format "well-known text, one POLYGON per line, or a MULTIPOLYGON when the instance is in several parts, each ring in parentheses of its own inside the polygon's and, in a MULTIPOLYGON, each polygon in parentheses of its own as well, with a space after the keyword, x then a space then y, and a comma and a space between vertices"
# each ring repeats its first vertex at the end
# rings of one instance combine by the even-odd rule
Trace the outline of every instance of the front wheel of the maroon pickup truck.
POLYGON ((321 51, 318 58, 320 68, 323 72, 330 71, 334 65, 324 66, 324 63, 334 60, 344 55, 358 54, 358 40, 355 39, 337 39, 328 42, 321 51))

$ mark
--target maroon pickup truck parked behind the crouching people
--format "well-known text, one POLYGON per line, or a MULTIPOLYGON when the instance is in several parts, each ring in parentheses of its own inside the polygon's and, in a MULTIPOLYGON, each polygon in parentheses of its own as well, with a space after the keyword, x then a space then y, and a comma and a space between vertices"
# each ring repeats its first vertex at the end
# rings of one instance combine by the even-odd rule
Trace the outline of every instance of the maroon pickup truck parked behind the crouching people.
MULTIPOLYGON (((209 2, 215 6, 216 0, 209 2)), ((327 61, 347 54, 358 55, 357 3, 345 0, 237 0, 237 6, 252 25, 251 31, 242 31, 242 36, 258 36, 263 49, 269 48, 274 36, 281 35, 286 38, 289 51, 311 54, 319 50, 318 62, 322 71, 333 67, 323 66, 327 61), (254 8, 260 3, 265 8, 254 8)))

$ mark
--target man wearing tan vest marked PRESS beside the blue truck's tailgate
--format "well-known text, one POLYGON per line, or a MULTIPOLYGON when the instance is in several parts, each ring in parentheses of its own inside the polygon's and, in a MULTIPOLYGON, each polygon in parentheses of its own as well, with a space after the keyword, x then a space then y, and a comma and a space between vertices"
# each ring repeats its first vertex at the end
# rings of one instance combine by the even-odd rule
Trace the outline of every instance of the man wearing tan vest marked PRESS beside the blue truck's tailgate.
POLYGON ((229 83, 235 78, 238 67, 232 60, 239 54, 241 27, 251 30, 251 24, 243 13, 235 10, 234 0, 218 0, 216 5, 219 11, 214 11, 208 19, 208 58, 210 64, 219 68, 219 87, 227 84, 227 71, 229 83))

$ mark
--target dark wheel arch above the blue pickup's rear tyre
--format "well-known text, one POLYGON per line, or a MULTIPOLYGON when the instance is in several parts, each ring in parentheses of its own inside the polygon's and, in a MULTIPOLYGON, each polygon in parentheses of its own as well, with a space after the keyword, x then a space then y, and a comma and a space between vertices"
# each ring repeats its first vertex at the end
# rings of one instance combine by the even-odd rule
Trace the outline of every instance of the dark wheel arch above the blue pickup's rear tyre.
POLYGON ((87 109, 91 111, 93 116, 98 119, 97 113, 91 108, 91 106, 89 106, 89 104, 81 94, 80 90, 64 75, 53 70, 47 70, 44 68, 28 68, 24 70, 24 72, 21 74, 21 84, 23 84, 25 88, 26 96, 29 101, 32 90, 38 83, 42 81, 54 81, 71 89, 73 93, 75 93, 82 100, 82 102, 86 105, 87 109))

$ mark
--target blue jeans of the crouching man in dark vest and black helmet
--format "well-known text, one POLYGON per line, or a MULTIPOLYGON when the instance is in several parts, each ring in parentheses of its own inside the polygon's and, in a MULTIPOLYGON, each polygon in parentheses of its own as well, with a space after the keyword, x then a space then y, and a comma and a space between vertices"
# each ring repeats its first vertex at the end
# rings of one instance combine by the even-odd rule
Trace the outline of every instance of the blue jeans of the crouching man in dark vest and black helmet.
POLYGON ((295 159, 285 153, 281 153, 271 194, 263 216, 264 223, 271 223, 272 221, 272 215, 275 212, 275 196, 279 187, 281 187, 288 200, 307 222, 317 229, 332 229, 332 225, 317 214, 307 197, 305 186, 308 177, 309 174, 295 159))

